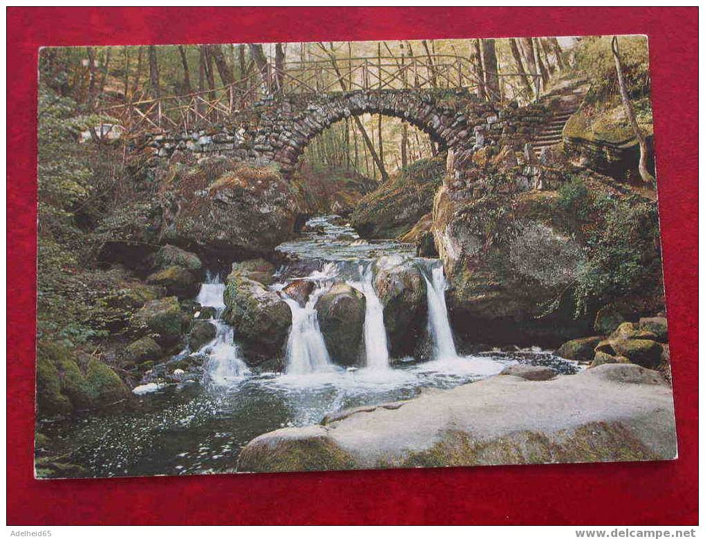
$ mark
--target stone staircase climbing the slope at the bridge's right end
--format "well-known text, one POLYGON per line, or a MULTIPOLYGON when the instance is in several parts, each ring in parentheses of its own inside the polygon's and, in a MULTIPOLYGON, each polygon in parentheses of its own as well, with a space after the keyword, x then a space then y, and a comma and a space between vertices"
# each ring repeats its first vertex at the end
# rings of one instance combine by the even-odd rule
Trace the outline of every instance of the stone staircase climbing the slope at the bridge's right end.
POLYGON ((563 127, 565 127, 568 118, 580 107, 588 87, 587 80, 568 79, 558 82, 551 92, 541 97, 541 104, 544 104, 553 113, 532 140, 532 147, 537 158, 544 148, 558 144, 563 140, 563 127))

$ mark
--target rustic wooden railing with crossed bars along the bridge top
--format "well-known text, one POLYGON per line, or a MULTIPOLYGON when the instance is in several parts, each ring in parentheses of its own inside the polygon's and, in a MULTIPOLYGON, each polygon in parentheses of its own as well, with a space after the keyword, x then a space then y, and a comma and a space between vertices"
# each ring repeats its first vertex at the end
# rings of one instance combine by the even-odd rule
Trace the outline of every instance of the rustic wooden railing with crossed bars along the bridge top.
MULTIPOLYGON (((498 73, 501 89, 512 99, 529 101, 517 73, 498 73)), ((537 77, 538 75, 533 75, 537 77)), ((277 69, 248 75, 224 87, 184 95, 136 99, 104 106, 101 113, 116 118, 126 132, 190 132, 224 123, 268 94, 330 94, 372 89, 467 89, 479 91, 474 64, 462 56, 383 56, 289 61, 277 69)), ((501 99, 491 95, 489 99, 501 99)))

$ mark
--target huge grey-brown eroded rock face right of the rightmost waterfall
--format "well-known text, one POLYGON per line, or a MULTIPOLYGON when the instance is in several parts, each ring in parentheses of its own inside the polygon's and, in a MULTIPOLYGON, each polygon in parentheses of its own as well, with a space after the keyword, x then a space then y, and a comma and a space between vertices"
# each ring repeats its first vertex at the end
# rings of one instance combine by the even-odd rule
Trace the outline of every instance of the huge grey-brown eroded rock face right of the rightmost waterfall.
MULTIPOLYGON (((546 304, 575 280, 582 246, 562 226, 549 192, 458 198, 443 187, 433 233, 450 284, 453 326, 470 342, 558 346, 588 333, 574 306, 546 304), (518 342, 521 341, 521 342, 518 342)), ((570 295, 565 295, 570 299, 570 295)))

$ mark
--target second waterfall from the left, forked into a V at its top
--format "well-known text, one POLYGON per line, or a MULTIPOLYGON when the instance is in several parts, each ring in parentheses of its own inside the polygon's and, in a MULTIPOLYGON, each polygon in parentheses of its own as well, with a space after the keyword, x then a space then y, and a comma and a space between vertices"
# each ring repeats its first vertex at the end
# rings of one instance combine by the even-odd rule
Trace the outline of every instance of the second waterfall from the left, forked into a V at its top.
POLYGON ((331 357, 318 324, 316 302, 325 287, 318 285, 309 295, 305 306, 283 295, 291 309, 291 329, 286 343, 286 373, 311 374, 333 370, 331 357))

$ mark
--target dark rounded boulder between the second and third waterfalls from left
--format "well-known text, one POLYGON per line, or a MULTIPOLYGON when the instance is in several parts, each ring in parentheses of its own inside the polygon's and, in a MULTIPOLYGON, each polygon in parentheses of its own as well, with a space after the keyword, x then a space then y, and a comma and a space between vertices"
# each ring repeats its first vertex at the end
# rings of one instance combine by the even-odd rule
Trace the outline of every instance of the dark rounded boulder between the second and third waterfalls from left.
POLYGON ((316 302, 318 321, 333 361, 360 364, 364 297, 350 285, 333 285, 316 302))

